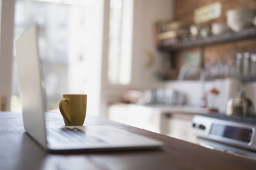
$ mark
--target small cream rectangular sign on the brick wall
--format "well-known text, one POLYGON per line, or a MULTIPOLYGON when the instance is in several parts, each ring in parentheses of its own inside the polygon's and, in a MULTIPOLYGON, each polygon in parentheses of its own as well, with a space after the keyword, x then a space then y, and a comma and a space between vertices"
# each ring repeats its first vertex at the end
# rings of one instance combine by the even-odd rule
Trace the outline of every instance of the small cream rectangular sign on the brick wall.
POLYGON ((194 11, 195 23, 206 22, 221 16, 221 3, 213 3, 194 11))

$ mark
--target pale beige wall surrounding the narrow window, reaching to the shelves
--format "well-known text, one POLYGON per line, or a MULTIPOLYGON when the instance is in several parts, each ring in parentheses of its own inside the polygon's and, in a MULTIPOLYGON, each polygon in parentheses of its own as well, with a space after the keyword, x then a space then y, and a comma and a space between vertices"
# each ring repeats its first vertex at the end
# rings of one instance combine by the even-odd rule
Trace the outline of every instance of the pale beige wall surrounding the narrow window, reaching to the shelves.
MULTIPOLYGON (((106 1, 104 11, 104 28, 108 27, 109 10, 106 1)), ((154 24, 157 20, 173 19, 173 0, 134 0, 134 22, 132 35, 132 76, 129 85, 109 85, 107 80, 108 70, 108 29, 104 29, 104 43, 102 52, 102 87, 100 115, 107 117, 108 103, 120 101, 122 94, 127 89, 145 89, 156 87, 159 83, 154 74, 160 66, 161 55, 154 46, 154 24), (153 54, 153 64, 145 67, 148 60, 147 51, 153 54)))

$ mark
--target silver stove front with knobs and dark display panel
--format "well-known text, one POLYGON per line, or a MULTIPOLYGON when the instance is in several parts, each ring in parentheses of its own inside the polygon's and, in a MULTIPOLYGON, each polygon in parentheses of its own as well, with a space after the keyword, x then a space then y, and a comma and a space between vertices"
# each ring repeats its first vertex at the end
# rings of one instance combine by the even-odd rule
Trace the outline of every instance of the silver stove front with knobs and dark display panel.
POLYGON ((196 115, 192 121, 199 145, 252 159, 256 159, 255 128, 255 116, 196 115))

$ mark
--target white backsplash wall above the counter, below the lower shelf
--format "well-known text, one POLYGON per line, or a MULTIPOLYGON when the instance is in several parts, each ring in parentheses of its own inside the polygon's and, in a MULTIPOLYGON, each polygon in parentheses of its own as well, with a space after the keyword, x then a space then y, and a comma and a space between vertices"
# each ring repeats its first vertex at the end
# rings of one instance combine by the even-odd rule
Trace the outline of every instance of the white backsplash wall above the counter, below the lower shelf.
MULTIPOLYGON (((239 81, 234 78, 206 81, 205 86, 202 85, 201 81, 168 81, 163 83, 161 87, 170 87, 173 90, 183 92, 186 94, 187 104, 191 106, 199 106, 202 94, 209 92, 212 87, 215 87, 220 91, 218 97, 219 110, 224 113, 228 99, 234 97, 239 91, 239 81)), ((255 82, 246 84, 246 96, 256 106, 255 82)))

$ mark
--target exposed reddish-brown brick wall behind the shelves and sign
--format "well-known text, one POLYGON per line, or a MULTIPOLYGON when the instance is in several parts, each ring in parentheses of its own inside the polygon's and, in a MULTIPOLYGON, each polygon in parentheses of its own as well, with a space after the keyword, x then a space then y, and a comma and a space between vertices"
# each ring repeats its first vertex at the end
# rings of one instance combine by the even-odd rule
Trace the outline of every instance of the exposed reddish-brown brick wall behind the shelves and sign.
MULTIPOLYGON (((182 20, 189 24, 194 24, 193 12, 196 8, 200 8, 207 4, 215 3, 215 0, 176 0, 175 1, 175 20, 182 20)), ((229 9, 256 8, 256 0, 220 0, 222 4, 221 17, 206 22, 212 24, 214 22, 226 22, 226 13, 229 9)), ((223 57, 234 57, 237 52, 256 52, 256 39, 247 39, 242 41, 234 41, 231 43, 221 43, 217 45, 209 45, 204 48, 204 60, 214 58, 214 60, 223 57)), ((182 52, 177 53, 179 58, 182 52)), ((180 60, 180 59, 177 59, 180 60)), ((177 68, 181 63, 177 62, 177 68)))

